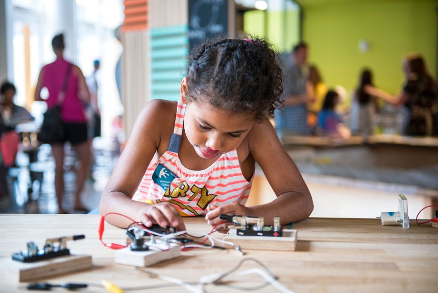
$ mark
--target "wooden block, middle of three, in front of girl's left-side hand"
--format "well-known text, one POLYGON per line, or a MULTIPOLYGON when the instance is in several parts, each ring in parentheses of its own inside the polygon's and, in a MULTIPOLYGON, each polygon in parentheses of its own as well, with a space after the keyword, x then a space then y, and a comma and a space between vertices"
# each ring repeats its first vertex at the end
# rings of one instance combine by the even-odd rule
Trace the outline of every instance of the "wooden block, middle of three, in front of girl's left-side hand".
POLYGON ((179 257, 181 255, 181 246, 175 243, 171 243, 170 245, 170 249, 163 251, 131 251, 130 247, 126 247, 115 252, 114 262, 147 267, 168 259, 179 257))

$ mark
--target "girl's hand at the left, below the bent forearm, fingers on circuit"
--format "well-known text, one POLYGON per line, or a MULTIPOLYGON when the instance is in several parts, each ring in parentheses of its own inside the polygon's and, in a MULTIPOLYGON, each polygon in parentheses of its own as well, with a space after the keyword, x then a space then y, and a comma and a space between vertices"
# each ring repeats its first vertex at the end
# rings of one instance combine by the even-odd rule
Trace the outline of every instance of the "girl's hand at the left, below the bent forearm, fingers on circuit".
POLYGON ((170 226, 179 231, 185 231, 181 215, 169 202, 160 202, 156 205, 145 204, 145 207, 139 212, 140 221, 146 227, 151 227, 153 223, 157 223, 160 227, 170 226))

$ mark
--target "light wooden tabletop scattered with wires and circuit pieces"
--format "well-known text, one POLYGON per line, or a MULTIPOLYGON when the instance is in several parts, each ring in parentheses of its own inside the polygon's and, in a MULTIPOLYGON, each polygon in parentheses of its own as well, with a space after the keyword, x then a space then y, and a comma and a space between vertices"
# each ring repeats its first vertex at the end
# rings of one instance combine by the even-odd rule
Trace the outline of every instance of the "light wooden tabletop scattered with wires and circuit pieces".
MULTIPOLYGON (((0 256, 9 257, 23 250, 28 241, 41 245, 45 238, 85 234, 86 238, 69 241, 71 250, 92 255, 91 271, 63 275, 46 280, 51 283, 100 283, 107 279, 120 287, 163 284, 130 266, 113 262, 114 251, 99 241, 98 215, 1 214, 0 256)), ((208 232, 202 217, 185 219, 186 228, 208 232)), ((279 282, 295 292, 437 292, 438 291, 438 229, 428 224, 418 226, 411 220, 410 229, 381 226, 376 219, 309 218, 294 224, 298 230, 297 250, 292 252, 250 251, 267 265, 279 282)), ((123 229, 105 227, 104 242, 121 243, 123 229)), ((215 233, 217 237, 222 234, 215 233)), ((267 247, 269 249, 269 247, 267 247)), ((151 271, 186 282, 202 276, 224 273, 242 258, 230 249, 182 252, 182 256, 150 267, 151 271)), ((246 262, 243 269, 257 267, 246 262)), ((243 276, 239 286, 262 284, 260 277, 243 276)), ((2 292, 27 291, 26 283, 14 283, 0 277, 2 292)), ((240 292, 225 287, 206 286, 207 292, 240 292)), ((188 292, 181 286, 153 289, 153 292, 188 292)), ((53 288, 54 292, 67 292, 53 288)), ((84 292, 106 292, 88 287, 84 292)), ((267 286, 262 292, 276 292, 267 286)), ((138 292, 138 291, 128 291, 138 292)))

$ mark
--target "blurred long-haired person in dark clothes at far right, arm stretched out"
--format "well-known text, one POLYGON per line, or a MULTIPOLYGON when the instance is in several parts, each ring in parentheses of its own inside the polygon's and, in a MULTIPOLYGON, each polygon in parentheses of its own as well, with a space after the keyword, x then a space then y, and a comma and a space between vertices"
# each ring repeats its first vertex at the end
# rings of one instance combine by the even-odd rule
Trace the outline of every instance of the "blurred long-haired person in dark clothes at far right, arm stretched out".
POLYGON ((434 131, 432 108, 436 84, 418 53, 406 55, 403 60, 405 82, 400 94, 391 95, 380 88, 365 86, 365 92, 386 102, 403 106, 401 133, 404 136, 431 136, 434 131))

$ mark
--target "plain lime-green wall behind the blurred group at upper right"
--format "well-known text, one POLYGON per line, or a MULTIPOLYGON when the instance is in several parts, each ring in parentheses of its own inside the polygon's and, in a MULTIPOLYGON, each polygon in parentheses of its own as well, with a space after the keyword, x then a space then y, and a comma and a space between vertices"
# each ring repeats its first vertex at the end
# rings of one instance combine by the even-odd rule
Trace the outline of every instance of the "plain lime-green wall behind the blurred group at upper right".
POLYGON ((316 64, 328 86, 357 86, 362 67, 389 93, 400 91, 401 60, 420 52, 436 77, 437 0, 298 0, 303 11, 303 40, 309 62, 316 64), (359 50, 359 40, 370 44, 359 50))

